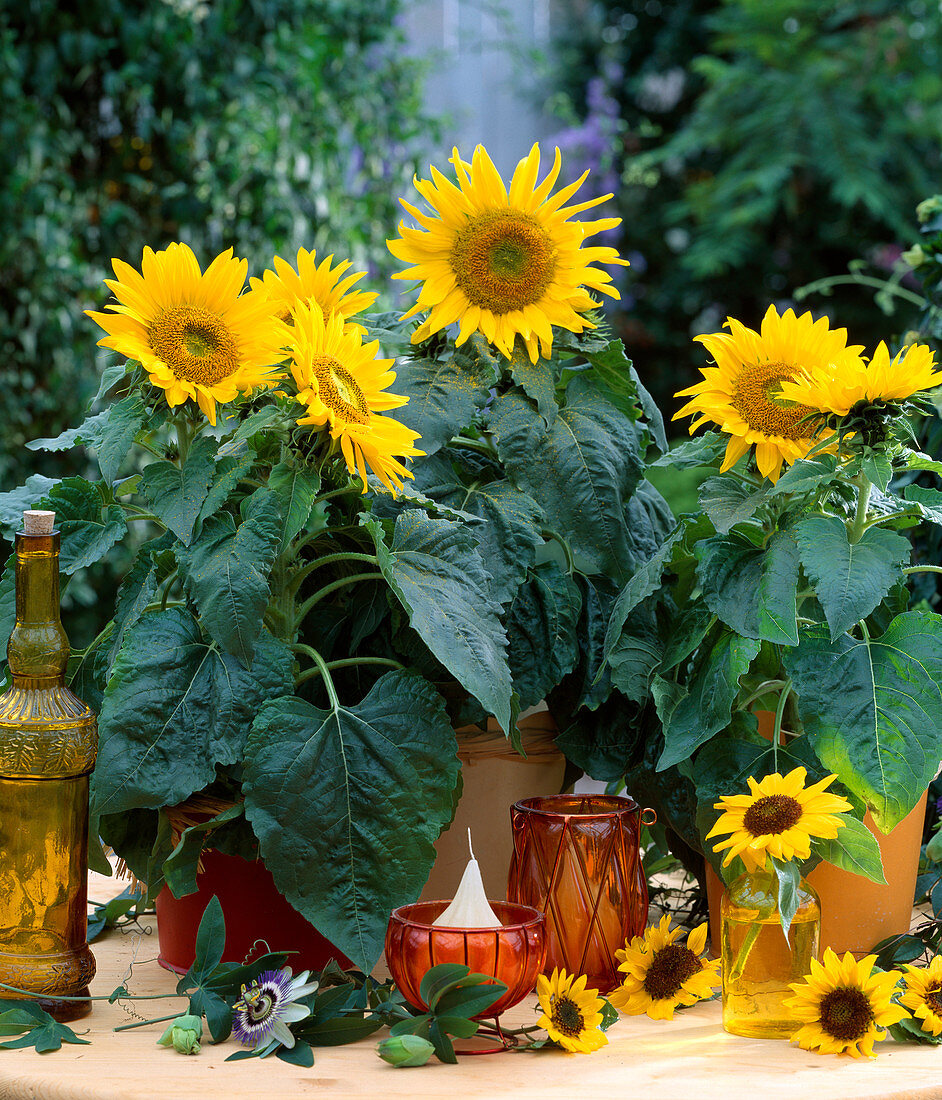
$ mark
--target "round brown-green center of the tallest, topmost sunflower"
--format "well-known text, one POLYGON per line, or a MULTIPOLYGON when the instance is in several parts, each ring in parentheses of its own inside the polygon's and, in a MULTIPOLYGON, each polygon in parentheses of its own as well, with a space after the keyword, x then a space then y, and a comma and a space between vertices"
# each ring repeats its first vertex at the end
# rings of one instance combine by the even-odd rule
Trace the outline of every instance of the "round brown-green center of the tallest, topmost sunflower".
POLYGON ((469 218, 449 258, 471 305, 493 314, 539 301, 556 274, 552 239, 522 210, 488 210, 469 218))

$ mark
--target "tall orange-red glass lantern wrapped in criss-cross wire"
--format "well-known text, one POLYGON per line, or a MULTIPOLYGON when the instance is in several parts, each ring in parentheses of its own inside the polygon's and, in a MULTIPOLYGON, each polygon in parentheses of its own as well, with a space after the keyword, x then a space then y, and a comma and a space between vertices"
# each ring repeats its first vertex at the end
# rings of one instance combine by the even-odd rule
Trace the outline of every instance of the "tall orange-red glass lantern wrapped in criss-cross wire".
POLYGON ((545 974, 554 967, 584 974, 603 993, 620 985, 615 952, 647 923, 639 839, 642 825, 656 820, 653 810, 617 795, 514 803, 507 897, 546 915, 545 974))

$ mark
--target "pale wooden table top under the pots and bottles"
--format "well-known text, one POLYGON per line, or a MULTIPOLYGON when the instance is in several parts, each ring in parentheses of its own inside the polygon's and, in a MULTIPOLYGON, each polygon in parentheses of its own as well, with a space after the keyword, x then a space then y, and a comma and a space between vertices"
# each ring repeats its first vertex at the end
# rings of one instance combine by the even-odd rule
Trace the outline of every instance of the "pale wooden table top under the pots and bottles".
MULTIPOLYGON (((90 897, 118 893, 124 883, 94 877, 90 897)), ((153 919, 144 932, 106 933, 92 945, 98 975, 92 993, 108 996, 122 982, 134 994, 172 992, 176 978, 156 963, 153 919)), ((512 1009, 511 1026, 533 1023, 535 998, 512 1009)), ((185 1011, 182 999, 180 1011, 185 1011)), ((131 1005, 164 1015, 174 1001, 131 1005)), ((623 1016, 609 1031, 609 1045, 591 1055, 540 1050, 464 1057, 457 1066, 432 1060, 418 1069, 394 1069, 375 1054, 385 1032, 349 1046, 315 1049, 315 1065, 300 1069, 276 1058, 224 1063, 239 1049, 229 1040, 206 1042, 185 1057, 156 1045, 164 1024, 116 1033, 132 1021, 120 1004, 97 1001, 92 1014, 74 1024, 89 1046, 64 1045, 36 1054, 0 1050, 0 1100, 188 1100, 188 1098, 329 1097, 338 1100, 514 1098, 581 1100, 645 1097, 658 1100, 801 1100, 942 1097, 942 1049, 890 1040, 878 1043, 876 1060, 811 1054, 776 1041, 727 1035, 720 1003, 678 1013, 673 1021, 623 1016)))

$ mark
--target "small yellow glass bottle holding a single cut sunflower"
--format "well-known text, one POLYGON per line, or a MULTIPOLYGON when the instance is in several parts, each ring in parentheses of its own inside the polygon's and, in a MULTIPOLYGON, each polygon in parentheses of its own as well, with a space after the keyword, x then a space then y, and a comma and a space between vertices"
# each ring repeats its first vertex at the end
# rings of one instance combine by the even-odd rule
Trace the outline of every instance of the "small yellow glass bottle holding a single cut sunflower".
POLYGON ((741 875, 723 894, 723 1027, 752 1038, 790 1038, 801 1026, 785 1000, 818 958, 821 909, 801 879, 788 939, 778 912, 775 871, 741 875))

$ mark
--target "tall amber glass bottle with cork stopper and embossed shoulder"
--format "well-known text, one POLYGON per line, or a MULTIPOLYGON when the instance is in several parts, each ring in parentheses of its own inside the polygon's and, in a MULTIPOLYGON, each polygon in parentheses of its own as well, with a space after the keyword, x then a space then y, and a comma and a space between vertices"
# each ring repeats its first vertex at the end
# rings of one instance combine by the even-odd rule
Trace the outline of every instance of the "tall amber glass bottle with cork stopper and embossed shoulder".
MULTIPOLYGON (((65 685, 54 513, 17 534, 13 684, 0 695, 0 982, 42 996, 57 1020, 90 1009, 86 871, 95 714, 65 685)), ((0 997, 17 993, 0 989, 0 997)))

